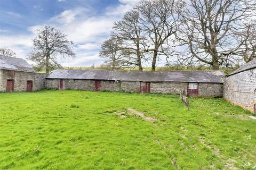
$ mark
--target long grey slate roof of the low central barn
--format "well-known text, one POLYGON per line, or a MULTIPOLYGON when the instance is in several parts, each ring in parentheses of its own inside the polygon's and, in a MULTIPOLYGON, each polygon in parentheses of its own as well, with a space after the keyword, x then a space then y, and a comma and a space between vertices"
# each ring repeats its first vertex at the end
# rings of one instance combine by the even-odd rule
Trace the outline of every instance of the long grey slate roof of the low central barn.
POLYGON ((53 70, 47 79, 222 83, 221 71, 53 70))

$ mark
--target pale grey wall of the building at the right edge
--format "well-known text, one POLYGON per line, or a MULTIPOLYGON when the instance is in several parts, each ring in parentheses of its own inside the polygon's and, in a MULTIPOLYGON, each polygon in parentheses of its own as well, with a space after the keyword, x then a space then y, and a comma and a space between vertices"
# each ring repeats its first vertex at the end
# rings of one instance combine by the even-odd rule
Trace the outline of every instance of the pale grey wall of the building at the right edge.
POLYGON ((230 103, 253 112, 256 105, 256 69, 227 77, 223 97, 230 103))

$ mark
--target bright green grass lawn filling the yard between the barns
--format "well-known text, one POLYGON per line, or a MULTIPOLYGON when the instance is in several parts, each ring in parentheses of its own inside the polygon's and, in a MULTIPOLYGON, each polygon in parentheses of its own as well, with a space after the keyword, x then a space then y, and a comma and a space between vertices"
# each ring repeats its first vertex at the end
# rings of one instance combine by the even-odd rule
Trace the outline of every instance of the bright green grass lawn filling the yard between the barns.
POLYGON ((189 100, 187 111, 178 95, 0 94, 0 169, 253 169, 250 113, 221 98, 189 100))

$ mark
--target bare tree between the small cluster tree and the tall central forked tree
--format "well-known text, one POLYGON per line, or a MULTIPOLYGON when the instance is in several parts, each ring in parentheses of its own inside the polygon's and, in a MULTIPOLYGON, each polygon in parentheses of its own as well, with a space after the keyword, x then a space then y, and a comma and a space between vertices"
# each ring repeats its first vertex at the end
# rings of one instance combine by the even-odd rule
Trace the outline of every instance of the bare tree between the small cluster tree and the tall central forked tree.
POLYGON ((139 70, 142 70, 145 37, 142 35, 138 20, 139 13, 137 11, 127 12, 121 21, 114 23, 112 36, 122 39, 121 48, 126 56, 127 64, 138 66, 139 70))

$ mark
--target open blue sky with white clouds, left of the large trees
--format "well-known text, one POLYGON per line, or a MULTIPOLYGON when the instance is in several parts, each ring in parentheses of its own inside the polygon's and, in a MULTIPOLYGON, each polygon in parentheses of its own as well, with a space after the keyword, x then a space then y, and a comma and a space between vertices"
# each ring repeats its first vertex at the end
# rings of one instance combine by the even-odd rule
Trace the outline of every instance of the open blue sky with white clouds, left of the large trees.
MULTIPOLYGON (((76 58, 59 61, 62 66, 91 66, 99 58, 102 42, 113 23, 138 0, 0 0, 0 47, 11 48, 26 59, 32 39, 42 25, 53 25, 74 42, 76 58)), ((31 63, 31 62, 30 62, 31 63)))

